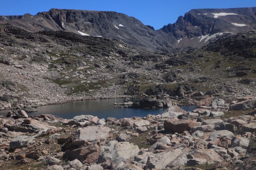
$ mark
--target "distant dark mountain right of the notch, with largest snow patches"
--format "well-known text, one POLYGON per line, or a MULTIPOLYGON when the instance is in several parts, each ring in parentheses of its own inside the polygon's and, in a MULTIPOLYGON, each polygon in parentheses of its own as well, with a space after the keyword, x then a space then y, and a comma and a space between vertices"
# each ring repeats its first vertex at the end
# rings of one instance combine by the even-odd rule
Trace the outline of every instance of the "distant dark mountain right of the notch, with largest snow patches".
POLYGON ((200 47, 212 38, 256 29, 256 8, 192 9, 161 31, 173 35, 180 46, 200 47))

